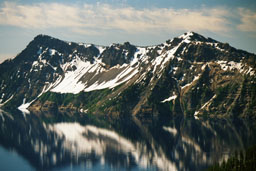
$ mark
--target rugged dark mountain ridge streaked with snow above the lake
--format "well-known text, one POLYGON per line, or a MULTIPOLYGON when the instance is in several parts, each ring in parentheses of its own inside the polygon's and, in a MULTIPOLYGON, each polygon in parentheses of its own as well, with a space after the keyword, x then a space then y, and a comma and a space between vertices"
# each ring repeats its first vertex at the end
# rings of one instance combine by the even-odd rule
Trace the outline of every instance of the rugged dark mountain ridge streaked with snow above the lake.
POLYGON ((0 65, 0 103, 22 111, 256 116, 256 55, 194 32, 156 46, 38 35, 0 65))

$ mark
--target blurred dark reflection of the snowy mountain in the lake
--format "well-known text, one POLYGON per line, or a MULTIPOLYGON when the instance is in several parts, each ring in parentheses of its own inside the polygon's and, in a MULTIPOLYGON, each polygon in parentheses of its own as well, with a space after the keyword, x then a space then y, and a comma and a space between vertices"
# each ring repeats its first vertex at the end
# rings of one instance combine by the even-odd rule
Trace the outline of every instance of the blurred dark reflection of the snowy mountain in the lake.
POLYGON ((0 145, 35 170, 202 170, 256 143, 246 120, 76 120, 0 111, 0 145))

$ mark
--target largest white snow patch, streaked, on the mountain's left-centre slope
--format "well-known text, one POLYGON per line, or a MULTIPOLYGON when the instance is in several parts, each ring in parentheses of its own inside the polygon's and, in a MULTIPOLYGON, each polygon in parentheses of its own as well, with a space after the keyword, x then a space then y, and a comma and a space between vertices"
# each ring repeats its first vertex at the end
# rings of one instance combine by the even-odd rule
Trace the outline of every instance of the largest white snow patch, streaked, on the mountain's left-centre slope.
MULTIPOLYGON (((137 59, 134 59, 135 63, 137 59)), ((67 70, 70 66, 76 66, 75 71, 66 71, 63 80, 57 80, 55 82, 55 87, 51 89, 52 92, 58 93, 73 93, 77 94, 81 91, 89 92, 94 90, 100 90, 105 88, 114 88, 128 80, 130 80, 135 74, 138 73, 138 69, 131 67, 128 64, 123 64, 122 66, 116 65, 109 70, 104 69, 104 63, 101 62, 101 59, 95 58, 95 62, 91 64, 90 62, 84 62, 79 57, 76 57, 72 62, 66 63, 62 66, 63 70, 67 70), (116 77, 113 77, 110 80, 101 81, 96 80, 94 83, 87 85, 88 81, 85 82, 81 81, 82 77, 86 77, 86 75, 92 73, 94 74, 93 77, 96 77, 98 74, 103 72, 108 72, 112 69, 118 69, 120 72, 116 77)), ((92 80, 92 78, 91 78, 92 80)))

